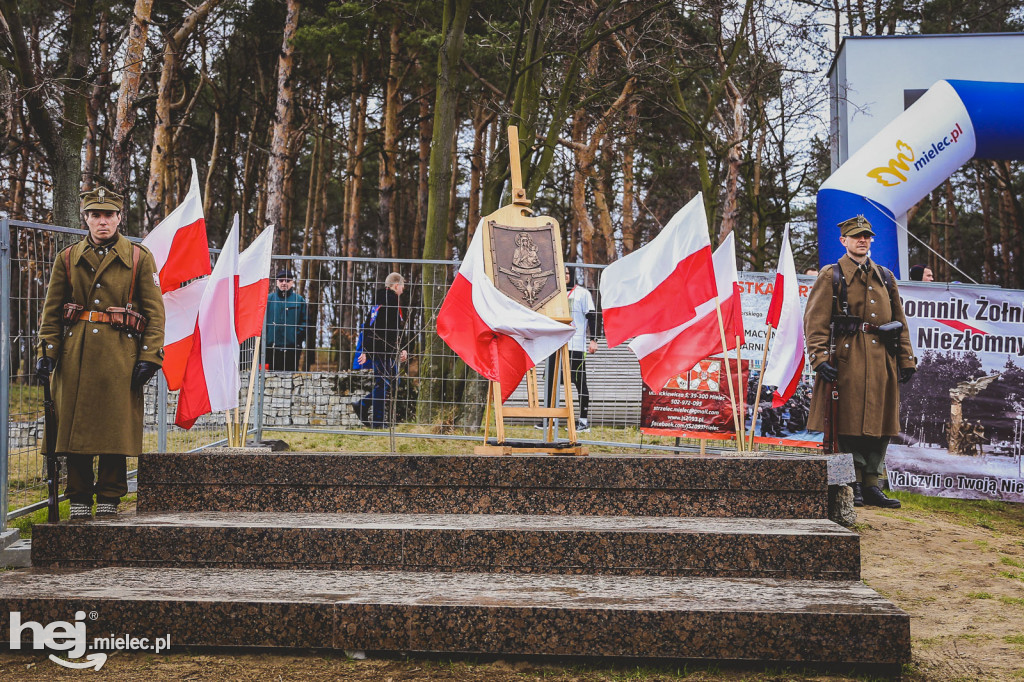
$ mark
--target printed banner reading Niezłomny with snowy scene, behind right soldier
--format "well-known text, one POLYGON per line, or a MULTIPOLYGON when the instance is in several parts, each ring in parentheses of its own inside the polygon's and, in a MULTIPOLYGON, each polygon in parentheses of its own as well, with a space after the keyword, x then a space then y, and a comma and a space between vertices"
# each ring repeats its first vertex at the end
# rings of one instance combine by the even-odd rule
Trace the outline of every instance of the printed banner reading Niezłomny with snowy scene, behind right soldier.
POLYGON ((918 374, 886 456, 897 491, 1024 502, 1024 292, 900 285, 918 374))

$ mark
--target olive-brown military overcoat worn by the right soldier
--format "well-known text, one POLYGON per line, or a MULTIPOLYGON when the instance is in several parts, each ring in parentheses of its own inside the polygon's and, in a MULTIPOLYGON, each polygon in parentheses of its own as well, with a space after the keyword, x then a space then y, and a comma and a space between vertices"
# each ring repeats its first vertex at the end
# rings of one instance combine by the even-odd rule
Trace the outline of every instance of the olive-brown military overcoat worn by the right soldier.
MULTIPOLYGON (((849 285, 847 301, 851 315, 871 325, 884 325, 893 319, 903 323, 899 352, 893 357, 886 350, 882 338, 858 331, 853 336, 837 338, 837 356, 829 356, 828 325, 833 314, 833 268, 836 265, 826 265, 814 281, 804 311, 807 356, 813 368, 827 360, 839 369, 840 434, 894 436, 899 433, 899 370, 918 365, 899 290, 895 279, 890 278, 891 286, 896 291, 894 317, 894 306, 889 303, 889 291, 882 282, 878 265, 870 263, 870 271, 866 275, 847 255, 840 258, 839 265, 849 285)), ((814 382, 807 428, 824 430, 829 400, 824 380, 818 376, 814 382)))

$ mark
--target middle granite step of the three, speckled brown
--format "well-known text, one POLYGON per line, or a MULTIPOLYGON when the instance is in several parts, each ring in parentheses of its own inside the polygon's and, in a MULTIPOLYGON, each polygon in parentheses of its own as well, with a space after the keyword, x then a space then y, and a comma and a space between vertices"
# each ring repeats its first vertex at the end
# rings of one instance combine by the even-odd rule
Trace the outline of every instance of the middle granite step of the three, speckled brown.
POLYGON ((145 512, 39 524, 33 564, 857 580, 820 519, 145 512))

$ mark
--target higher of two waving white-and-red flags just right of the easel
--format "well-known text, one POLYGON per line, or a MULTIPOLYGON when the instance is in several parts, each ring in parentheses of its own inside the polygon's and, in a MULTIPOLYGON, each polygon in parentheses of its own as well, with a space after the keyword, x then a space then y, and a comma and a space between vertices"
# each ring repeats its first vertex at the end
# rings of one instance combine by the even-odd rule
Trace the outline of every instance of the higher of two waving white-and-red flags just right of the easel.
POLYGON ((638 334, 678 328, 715 298, 711 241, 699 193, 649 244, 608 265, 601 275, 608 347, 638 334))

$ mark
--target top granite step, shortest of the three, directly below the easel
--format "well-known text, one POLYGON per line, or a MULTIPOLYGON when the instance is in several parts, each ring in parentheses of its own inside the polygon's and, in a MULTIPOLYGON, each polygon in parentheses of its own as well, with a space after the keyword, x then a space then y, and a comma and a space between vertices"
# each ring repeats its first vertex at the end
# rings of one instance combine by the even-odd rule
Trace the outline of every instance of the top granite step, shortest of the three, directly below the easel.
POLYGON ((139 459, 138 509, 582 516, 827 516, 827 459, 339 453, 139 459))

